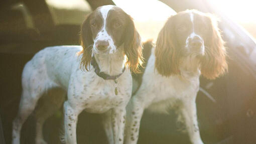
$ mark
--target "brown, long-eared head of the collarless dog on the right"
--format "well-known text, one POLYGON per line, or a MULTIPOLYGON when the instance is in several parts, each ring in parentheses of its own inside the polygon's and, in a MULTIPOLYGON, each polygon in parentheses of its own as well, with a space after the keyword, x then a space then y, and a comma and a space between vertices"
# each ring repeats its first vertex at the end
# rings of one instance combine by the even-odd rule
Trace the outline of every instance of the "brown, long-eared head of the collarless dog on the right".
POLYGON ((187 10, 170 17, 156 44, 156 69, 164 76, 179 74, 184 57, 199 59, 201 73, 214 79, 227 70, 226 51, 217 20, 211 14, 187 10))

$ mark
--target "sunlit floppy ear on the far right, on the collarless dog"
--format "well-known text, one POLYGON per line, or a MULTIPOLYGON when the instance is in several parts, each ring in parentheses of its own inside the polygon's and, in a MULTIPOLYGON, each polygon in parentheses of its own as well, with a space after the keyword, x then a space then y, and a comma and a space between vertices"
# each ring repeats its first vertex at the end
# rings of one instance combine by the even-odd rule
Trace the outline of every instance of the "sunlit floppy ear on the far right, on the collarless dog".
POLYGON ((219 75, 223 75, 228 69, 226 49, 216 18, 211 14, 207 14, 207 17, 210 19, 212 35, 210 45, 205 47, 205 56, 201 61, 201 73, 208 79, 215 79, 219 75))

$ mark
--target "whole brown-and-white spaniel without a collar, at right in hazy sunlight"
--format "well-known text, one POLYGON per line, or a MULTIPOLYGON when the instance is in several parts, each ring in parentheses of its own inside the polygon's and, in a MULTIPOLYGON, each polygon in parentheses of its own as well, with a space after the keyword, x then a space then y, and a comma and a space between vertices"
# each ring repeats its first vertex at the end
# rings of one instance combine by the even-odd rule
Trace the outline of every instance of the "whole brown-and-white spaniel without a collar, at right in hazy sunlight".
POLYGON ((137 143, 145 108, 165 113, 172 106, 180 110, 191 142, 203 143, 196 114, 199 77, 214 79, 227 71, 223 44, 210 14, 187 10, 168 19, 152 49, 141 87, 127 105, 126 144, 137 143))

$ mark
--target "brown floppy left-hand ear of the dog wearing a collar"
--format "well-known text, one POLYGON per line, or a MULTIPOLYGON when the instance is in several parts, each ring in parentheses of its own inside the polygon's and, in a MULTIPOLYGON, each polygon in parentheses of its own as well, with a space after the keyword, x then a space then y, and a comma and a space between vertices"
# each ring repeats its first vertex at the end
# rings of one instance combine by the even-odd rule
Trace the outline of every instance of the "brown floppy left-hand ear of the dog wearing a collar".
POLYGON ((87 70, 90 68, 90 61, 92 57, 92 46, 93 46, 93 40, 92 40, 92 32, 90 27, 90 16, 89 15, 86 20, 81 25, 81 31, 80 31, 80 42, 81 46, 83 47, 82 51, 79 52, 82 55, 80 68, 82 70, 87 70))

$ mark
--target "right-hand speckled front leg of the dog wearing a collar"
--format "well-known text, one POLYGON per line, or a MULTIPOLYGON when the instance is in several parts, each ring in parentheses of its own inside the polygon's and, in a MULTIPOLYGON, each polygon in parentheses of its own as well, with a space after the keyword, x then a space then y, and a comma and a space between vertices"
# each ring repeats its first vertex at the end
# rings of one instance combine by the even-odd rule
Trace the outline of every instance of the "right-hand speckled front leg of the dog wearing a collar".
POLYGON ((125 107, 112 109, 112 127, 114 143, 123 143, 123 134, 125 126, 125 107))

